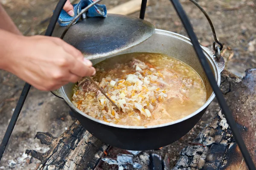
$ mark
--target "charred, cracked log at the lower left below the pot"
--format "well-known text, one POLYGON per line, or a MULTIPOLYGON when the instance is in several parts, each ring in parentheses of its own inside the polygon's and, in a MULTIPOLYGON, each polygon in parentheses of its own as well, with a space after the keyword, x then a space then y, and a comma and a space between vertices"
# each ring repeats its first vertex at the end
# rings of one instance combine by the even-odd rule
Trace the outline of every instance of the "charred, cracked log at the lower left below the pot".
POLYGON ((38 132, 35 138, 49 146, 49 151, 39 153, 26 150, 26 154, 39 159, 42 163, 38 170, 91 170, 107 149, 107 145, 92 136, 75 121, 61 136, 38 132))

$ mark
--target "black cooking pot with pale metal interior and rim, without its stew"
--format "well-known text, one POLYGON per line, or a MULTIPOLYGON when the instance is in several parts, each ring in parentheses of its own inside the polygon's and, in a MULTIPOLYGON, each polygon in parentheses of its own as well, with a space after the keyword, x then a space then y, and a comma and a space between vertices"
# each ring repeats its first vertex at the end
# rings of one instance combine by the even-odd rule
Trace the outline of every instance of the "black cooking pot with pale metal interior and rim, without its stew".
MULTIPOLYGON (((215 52, 212 51, 212 49, 203 46, 202 49, 218 85, 220 85, 220 74, 224 69, 224 59, 222 57, 217 59, 215 57, 215 52)), ((152 52, 166 54, 180 59, 181 61, 194 68, 195 71, 197 71, 197 73, 203 79, 207 90, 207 101, 205 104, 194 113, 191 113, 189 116, 174 122, 147 127, 125 126, 115 125, 99 119, 95 119, 76 108, 71 102, 74 83, 64 85, 58 90, 52 91, 52 93, 55 94, 55 96, 64 99, 64 101, 74 112, 74 115, 79 120, 81 125, 83 125, 86 130, 88 130, 91 134, 93 134, 93 136, 102 142, 126 150, 157 149, 177 141, 186 133, 188 133, 189 130, 191 130, 192 127, 194 127, 195 124, 199 121, 199 119, 201 119, 201 116, 204 114, 207 107, 214 99, 215 94, 212 91, 212 88, 207 80, 203 68, 201 67, 201 64, 189 38, 170 31, 155 29, 154 34, 140 45, 134 46, 111 56, 90 59, 90 61, 93 63, 93 65, 95 65, 104 59, 119 54, 133 52, 152 52)))

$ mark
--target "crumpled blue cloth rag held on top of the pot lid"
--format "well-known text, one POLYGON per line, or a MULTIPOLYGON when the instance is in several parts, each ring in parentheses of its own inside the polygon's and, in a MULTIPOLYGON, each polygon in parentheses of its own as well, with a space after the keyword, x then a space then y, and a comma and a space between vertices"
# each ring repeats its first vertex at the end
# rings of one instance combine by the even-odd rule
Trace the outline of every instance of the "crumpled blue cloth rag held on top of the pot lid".
MULTIPOLYGON (((74 4, 74 17, 76 17, 76 15, 79 14, 82 9, 84 9, 91 3, 93 3, 92 0, 81 0, 79 3, 74 4)), ((107 8, 105 5, 95 4, 94 6, 89 8, 86 15, 87 17, 107 17, 107 8)), ((66 11, 62 9, 61 14, 58 18, 58 23, 62 27, 67 26, 74 19, 74 17, 71 17, 69 14, 67 14, 66 11)), ((79 18, 76 20, 76 22, 78 20, 79 18)), ((76 22, 74 22, 73 24, 75 24, 76 22)))

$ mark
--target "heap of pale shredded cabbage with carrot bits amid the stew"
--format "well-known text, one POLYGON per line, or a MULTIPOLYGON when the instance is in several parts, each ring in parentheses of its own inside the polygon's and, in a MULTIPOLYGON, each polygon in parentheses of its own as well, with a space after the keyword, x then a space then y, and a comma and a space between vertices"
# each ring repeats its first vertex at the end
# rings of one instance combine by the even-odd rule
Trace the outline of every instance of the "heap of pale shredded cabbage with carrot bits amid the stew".
MULTIPOLYGON (((156 69, 142 70, 137 65, 134 74, 126 75, 125 79, 120 78, 115 81, 111 77, 105 79, 102 79, 100 87, 104 88, 124 113, 129 114, 138 110, 142 116, 151 117, 150 110, 153 111, 156 103, 167 97, 165 91, 158 87, 159 82, 164 81, 161 73, 156 69)), ((102 109, 107 107, 108 110, 113 110, 103 94, 99 94, 97 100, 101 103, 102 109)), ((116 111, 114 113, 116 114, 116 111)))

